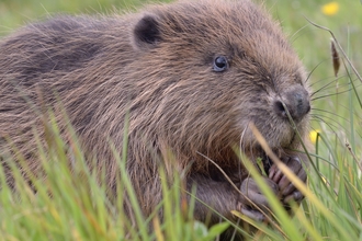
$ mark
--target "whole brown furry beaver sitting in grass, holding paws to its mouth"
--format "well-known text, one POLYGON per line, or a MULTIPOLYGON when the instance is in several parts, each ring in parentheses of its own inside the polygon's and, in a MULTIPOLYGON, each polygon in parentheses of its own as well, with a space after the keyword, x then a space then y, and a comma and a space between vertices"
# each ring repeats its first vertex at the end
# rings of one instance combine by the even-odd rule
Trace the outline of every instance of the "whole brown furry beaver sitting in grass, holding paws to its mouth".
MULTIPOLYGON (((145 216, 162 198, 162 164, 168 176, 182 173, 188 192, 196 186, 196 219, 205 220, 210 207, 231 220, 230 210, 262 219, 250 202, 268 202, 235 147, 253 163, 262 158, 265 183, 282 202, 303 198, 268 163, 249 126, 306 181, 308 161, 296 151, 309 123, 305 69, 279 24, 249 0, 179 1, 30 24, 0 42, 0 85, 2 152, 11 144, 36 172, 34 128, 45 139, 39 110, 59 119, 61 105, 111 192, 118 169, 110 142, 121 153, 126 135, 126 170, 145 216)), ((217 221, 211 214, 211 223, 217 221)))

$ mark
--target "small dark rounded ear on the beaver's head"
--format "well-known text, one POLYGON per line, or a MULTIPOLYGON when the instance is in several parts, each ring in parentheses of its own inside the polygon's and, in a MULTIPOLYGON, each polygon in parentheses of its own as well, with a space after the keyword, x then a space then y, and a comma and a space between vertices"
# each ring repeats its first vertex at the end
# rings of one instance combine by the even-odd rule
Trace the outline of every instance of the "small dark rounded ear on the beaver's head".
POLYGON ((161 41, 157 16, 147 14, 133 30, 133 42, 136 48, 151 48, 161 41))

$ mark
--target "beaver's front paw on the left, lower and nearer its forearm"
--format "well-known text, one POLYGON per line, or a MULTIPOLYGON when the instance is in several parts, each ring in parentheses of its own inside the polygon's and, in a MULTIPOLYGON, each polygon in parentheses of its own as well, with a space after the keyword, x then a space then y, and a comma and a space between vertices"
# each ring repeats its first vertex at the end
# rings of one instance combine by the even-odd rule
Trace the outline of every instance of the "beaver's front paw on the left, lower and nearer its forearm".
MULTIPOLYGON (((272 192, 278 195, 279 186, 275 182, 268 177, 263 177, 264 182, 272 192)), ((239 200, 239 210, 241 214, 258 221, 264 220, 264 214, 268 214, 269 204, 265 196, 261 193, 258 184, 251 177, 247 177, 241 183, 242 196, 239 200)))

